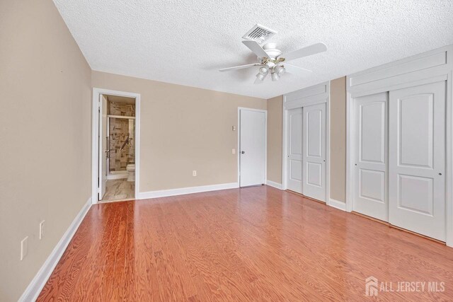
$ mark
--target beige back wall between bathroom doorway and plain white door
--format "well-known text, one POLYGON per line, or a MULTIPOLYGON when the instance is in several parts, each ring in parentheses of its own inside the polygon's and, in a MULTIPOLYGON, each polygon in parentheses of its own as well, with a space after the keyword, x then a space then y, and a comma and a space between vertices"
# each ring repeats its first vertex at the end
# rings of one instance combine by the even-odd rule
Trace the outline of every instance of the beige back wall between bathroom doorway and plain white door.
POLYGON ((92 80, 141 95, 140 192, 237 182, 238 107, 266 100, 99 71, 92 80))

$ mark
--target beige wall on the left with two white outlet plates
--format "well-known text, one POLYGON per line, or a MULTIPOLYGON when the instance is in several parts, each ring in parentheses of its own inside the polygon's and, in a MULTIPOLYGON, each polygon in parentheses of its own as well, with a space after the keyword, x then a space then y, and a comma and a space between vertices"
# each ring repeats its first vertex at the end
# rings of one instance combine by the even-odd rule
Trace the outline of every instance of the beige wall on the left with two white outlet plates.
POLYGON ((17 301, 91 194, 91 70, 52 0, 0 1, 0 41, 0 301, 17 301))

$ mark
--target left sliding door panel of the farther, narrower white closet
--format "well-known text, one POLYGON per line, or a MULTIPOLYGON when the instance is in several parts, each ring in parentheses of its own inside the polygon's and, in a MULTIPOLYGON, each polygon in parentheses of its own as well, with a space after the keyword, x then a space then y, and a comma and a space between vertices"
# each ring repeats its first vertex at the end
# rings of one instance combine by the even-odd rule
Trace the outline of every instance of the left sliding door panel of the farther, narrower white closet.
POLYGON ((302 194, 302 108, 287 112, 287 189, 302 194))

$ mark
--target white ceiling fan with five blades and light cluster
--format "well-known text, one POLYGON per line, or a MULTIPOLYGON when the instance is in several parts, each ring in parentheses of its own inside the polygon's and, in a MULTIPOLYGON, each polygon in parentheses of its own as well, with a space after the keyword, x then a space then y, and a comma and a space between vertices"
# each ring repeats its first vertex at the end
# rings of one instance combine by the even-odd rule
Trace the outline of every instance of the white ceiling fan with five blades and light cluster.
POLYGON ((267 43, 263 45, 263 47, 261 47, 260 44, 255 40, 245 40, 242 42, 243 45, 246 45, 246 47, 248 47, 254 54, 258 56, 258 62, 219 69, 219 71, 223 72, 236 69, 244 69, 253 66, 260 66, 258 74, 256 75, 256 84, 263 83, 263 80, 266 78, 266 76, 268 76, 269 72, 272 81, 278 81, 278 79, 280 79, 280 76, 285 74, 285 71, 288 71, 292 74, 299 72, 311 72, 311 70, 304 69, 299 66, 290 65, 286 62, 302 57, 308 57, 312 54, 318 54, 327 50, 326 45, 324 45, 323 43, 315 43, 314 45, 303 47, 300 50, 294 50, 294 52, 283 54, 281 50, 277 49, 277 45, 275 43, 267 43))

